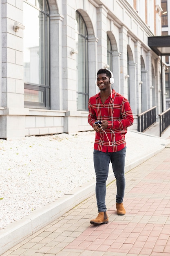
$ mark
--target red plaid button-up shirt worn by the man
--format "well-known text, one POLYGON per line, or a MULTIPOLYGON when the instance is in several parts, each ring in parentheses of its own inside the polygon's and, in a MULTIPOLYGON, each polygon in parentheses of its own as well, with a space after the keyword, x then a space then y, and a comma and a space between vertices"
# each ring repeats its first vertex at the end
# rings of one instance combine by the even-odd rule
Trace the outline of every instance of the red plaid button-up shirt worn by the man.
POLYGON ((127 127, 133 124, 132 110, 128 100, 112 90, 103 104, 99 92, 89 99, 88 110, 88 123, 92 127, 96 120, 108 120, 108 128, 105 129, 107 136, 103 130, 96 132, 94 149, 102 152, 117 152, 123 149, 126 146, 127 127))

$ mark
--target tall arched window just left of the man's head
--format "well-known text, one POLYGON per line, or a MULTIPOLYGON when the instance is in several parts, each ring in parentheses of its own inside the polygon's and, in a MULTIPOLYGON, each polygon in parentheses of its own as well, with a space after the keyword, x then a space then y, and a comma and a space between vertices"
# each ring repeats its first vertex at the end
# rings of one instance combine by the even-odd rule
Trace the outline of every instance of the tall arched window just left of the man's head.
POLYGON ((82 15, 76 11, 77 110, 88 110, 88 33, 82 15))

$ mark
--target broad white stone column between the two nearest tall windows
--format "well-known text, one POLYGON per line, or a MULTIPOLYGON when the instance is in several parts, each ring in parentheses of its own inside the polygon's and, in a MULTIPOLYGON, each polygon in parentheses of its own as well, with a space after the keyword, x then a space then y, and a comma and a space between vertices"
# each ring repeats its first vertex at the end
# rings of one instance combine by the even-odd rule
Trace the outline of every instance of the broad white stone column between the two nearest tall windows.
MULTIPOLYGON (((63 67, 63 110, 77 111, 75 9, 71 2, 62 1, 62 67, 63 67)), ((60 35, 61 36, 61 35, 60 35)))

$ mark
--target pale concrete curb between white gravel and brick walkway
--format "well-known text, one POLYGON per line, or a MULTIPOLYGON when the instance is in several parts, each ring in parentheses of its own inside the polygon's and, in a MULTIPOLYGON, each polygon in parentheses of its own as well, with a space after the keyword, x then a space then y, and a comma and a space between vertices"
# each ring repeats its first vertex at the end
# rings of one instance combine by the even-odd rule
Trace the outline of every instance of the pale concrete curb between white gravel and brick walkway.
MULTIPOLYGON (((150 159, 154 155, 161 152, 170 142, 163 144, 158 150, 137 159, 135 162, 127 164, 125 166, 125 173, 132 170, 133 168, 144 163, 146 160, 150 159)), ((108 175, 107 185, 115 180, 113 173, 108 175)), ((1 254, 7 250, 11 249, 13 246, 20 243, 28 236, 31 236, 36 231, 42 229, 49 223, 53 222, 57 218, 61 217, 64 213, 71 210, 77 204, 86 200, 90 196, 95 194, 95 180, 87 182, 82 187, 78 187, 59 198, 56 202, 47 204, 40 209, 33 211, 29 216, 25 216, 17 222, 13 222, 7 226, 7 229, 0 230, 0 248, 1 254)))

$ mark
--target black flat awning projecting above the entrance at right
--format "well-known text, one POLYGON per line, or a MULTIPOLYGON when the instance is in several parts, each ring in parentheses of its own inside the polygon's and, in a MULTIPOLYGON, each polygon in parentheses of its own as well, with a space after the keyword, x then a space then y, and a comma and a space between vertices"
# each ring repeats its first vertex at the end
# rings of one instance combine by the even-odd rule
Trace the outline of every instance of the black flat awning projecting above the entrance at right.
POLYGON ((150 36, 148 46, 158 56, 168 56, 170 55, 170 36, 150 36))

